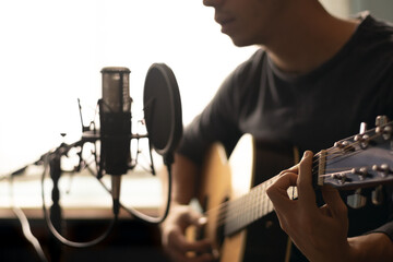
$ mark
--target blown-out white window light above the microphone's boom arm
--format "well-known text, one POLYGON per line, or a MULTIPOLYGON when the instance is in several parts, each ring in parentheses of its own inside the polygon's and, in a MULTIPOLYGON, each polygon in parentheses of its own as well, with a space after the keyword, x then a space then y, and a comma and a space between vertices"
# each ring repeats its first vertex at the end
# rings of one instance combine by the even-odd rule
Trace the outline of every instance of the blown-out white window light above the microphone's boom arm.
POLYGON ((78 98, 87 124, 102 97, 104 67, 131 70, 138 118, 148 67, 166 63, 189 123, 254 51, 235 47, 213 17, 202 1, 1 1, 0 175, 80 139, 78 98))

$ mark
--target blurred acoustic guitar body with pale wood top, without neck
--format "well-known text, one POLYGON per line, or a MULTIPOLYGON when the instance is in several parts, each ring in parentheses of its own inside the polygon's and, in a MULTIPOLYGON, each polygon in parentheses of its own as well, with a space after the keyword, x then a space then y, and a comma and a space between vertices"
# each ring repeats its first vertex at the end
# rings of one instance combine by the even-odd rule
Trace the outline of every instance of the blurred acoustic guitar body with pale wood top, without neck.
MULTIPOLYGON (((229 159, 221 144, 209 151, 202 169, 198 200, 207 215, 203 236, 219 252, 219 261, 286 261, 290 242, 274 212, 229 236, 224 235, 222 207, 247 194, 251 188, 294 165, 293 147, 262 148, 265 144, 243 135, 229 159), (262 159, 261 159, 262 158, 262 159)), ((225 214, 224 214, 225 215, 225 214)), ((241 216, 241 212, 239 216, 241 216)))

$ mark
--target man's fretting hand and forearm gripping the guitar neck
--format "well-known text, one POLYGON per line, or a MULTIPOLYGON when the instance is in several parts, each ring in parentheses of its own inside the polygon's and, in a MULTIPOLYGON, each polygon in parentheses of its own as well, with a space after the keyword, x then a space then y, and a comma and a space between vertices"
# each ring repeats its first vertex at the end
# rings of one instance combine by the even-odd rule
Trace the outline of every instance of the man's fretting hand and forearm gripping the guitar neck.
POLYGON ((285 170, 267 189, 282 228, 310 261, 393 261, 393 242, 381 233, 347 238, 347 207, 337 190, 322 188, 325 205, 318 207, 311 177, 312 153, 285 170), (297 186, 298 199, 287 189, 297 186))

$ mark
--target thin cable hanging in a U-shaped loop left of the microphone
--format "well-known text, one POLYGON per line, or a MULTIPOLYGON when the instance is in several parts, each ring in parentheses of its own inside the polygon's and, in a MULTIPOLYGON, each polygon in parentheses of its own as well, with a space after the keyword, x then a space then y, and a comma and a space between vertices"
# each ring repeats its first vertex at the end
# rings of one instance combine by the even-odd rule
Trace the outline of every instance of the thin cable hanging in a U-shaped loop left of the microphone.
POLYGON ((48 212, 47 212, 47 207, 46 207, 46 204, 45 204, 45 190, 44 190, 44 180, 45 180, 45 174, 47 172, 47 169, 48 169, 48 163, 49 163, 49 159, 48 157, 50 156, 51 154, 47 154, 46 157, 45 157, 45 160, 44 160, 44 172, 43 172, 43 176, 41 176, 41 199, 43 199, 43 211, 44 211, 44 217, 45 217, 45 221, 47 223, 47 226, 49 228, 49 230, 51 231, 51 234, 63 245, 66 246, 69 246, 69 247, 72 247, 72 248, 88 248, 88 247, 92 247, 92 246, 95 246, 99 242, 102 242, 104 239, 106 239, 109 234, 111 233, 117 219, 118 219, 118 214, 115 212, 114 214, 114 219, 111 219, 111 223, 109 224, 109 227, 107 228, 107 230, 100 235, 99 237, 97 237, 96 239, 93 239, 91 241, 86 241, 86 242, 76 242, 76 241, 71 241, 67 238, 64 238, 53 226, 50 217, 48 216, 48 212))

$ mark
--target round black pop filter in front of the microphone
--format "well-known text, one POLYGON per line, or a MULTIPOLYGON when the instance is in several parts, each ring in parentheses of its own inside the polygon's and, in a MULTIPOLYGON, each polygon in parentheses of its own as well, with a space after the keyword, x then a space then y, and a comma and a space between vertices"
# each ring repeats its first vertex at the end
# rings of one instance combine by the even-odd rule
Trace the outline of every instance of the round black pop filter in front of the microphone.
POLYGON ((143 94, 148 140, 160 155, 172 153, 182 135, 179 87, 171 69, 153 63, 146 74, 143 94))

